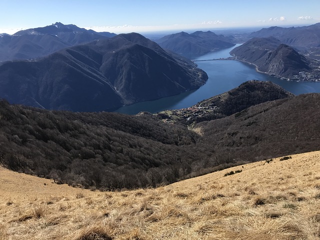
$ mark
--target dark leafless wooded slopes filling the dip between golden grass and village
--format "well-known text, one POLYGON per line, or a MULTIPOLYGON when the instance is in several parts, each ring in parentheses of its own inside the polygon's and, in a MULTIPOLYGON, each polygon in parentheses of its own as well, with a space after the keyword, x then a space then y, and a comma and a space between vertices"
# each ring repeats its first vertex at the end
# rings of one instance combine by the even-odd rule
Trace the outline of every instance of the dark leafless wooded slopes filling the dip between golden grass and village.
MULTIPOLYGON (((250 99, 258 89, 242 85, 221 101, 229 98, 240 110, 237 95, 250 99)), ((1 101, 0 163, 60 182, 115 189, 319 149, 320 94, 285 97, 274 90, 282 99, 268 101, 264 94, 266 102, 192 126, 167 124, 150 113, 49 111, 1 101)))

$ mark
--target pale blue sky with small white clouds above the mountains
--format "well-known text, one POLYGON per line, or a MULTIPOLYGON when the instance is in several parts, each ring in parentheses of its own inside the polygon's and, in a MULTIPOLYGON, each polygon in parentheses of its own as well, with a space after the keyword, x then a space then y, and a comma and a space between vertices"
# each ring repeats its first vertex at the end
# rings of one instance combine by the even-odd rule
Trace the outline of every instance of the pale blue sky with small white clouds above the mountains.
POLYGON ((114 33, 310 25, 320 0, 0 0, 0 33, 75 24, 114 33))

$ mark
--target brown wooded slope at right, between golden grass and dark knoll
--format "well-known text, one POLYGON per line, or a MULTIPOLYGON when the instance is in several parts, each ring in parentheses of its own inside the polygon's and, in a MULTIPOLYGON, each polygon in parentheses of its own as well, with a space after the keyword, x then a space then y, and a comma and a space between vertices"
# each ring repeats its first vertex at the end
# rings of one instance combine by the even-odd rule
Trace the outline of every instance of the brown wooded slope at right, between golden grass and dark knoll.
POLYGON ((236 159, 261 159, 320 149, 315 120, 320 94, 309 93, 251 106, 231 116, 198 123, 201 142, 236 159), (303 148, 303 150, 302 150, 303 148))

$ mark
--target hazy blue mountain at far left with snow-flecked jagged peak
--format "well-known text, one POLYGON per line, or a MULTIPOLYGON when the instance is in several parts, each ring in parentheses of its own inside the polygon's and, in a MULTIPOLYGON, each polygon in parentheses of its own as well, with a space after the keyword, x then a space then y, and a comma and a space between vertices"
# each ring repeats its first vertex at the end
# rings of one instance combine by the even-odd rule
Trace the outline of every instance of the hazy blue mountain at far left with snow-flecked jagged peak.
POLYGON ((41 57, 65 47, 114 35, 60 22, 21 30, 13 35, 1 34, 0 61, 41 57))

